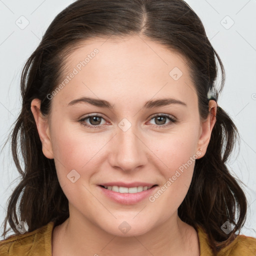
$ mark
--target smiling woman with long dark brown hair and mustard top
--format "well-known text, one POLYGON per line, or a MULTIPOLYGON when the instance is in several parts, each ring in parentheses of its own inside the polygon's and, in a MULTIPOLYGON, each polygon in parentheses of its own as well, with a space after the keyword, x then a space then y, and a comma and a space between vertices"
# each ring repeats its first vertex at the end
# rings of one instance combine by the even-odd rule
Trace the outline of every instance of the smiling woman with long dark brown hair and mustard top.
POLYGON ((255 255, 237 234, 246 198, 225 165, 238 133, 223 84, 184 1, 70 4, 22 72, 22 180, 4 222, 16 235, 0 254, 255 255))

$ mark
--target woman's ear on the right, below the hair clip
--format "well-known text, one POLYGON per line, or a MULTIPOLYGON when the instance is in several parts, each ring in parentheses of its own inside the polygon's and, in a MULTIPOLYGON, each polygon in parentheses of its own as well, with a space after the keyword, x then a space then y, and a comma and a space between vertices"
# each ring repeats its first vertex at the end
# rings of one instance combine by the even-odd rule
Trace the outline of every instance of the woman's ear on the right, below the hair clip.
POLYGON ((200 129, 200 136, 198 139, 197 148, 201 151, 201 154, 198 159, 203 157, 207 146, 210 141, 210 135, 212 128, 216 122, 216 112, 217 112, 217 103, 215 100, 209 100, 209 106, 208 106, 209 114, 207 116, 207 119, 205 121, 202 121, 201 123, 201 129, 200 129))

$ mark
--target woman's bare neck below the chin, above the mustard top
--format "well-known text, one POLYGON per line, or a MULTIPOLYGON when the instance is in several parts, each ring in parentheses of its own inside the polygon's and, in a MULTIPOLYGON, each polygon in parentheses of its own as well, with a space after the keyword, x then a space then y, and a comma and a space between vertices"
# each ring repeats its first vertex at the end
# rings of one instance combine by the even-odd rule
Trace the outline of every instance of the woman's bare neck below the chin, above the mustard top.
POLYGON ((52 256, 55 255, 199 255, 197 233, 177 213, 150 231, 137 236, 107 233, 87 219, 70 214, 53 230, 52 256), (60 246, 57 246, 59 244, 60 246), (64 254, 64 253, 65 254, 64 254))

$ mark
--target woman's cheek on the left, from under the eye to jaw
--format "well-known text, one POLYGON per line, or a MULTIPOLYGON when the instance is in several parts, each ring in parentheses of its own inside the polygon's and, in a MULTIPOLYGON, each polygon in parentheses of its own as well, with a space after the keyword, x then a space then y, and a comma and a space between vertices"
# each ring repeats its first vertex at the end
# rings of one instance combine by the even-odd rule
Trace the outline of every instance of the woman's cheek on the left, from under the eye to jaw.
POLYGON ((89 192, 89 183, 91 176, 99 170, 99 161, 102 160, 99 151, 107 140, 95 134, 85 134, 81 130, 64 126, 61 130, 52 131, 54 162, 59 184, 68 201, 80 207, 81 212, 87 211, 88 208, 100 207, 89 192), (78 206, 77 202, 82 202, 82 206, 78 206))

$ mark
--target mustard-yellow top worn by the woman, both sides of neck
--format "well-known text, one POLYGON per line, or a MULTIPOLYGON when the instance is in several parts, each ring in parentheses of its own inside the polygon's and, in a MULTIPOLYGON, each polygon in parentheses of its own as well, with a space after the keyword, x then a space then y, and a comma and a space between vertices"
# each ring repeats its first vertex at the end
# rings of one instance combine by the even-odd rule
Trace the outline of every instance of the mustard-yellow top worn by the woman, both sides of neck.
MULTIPOLYGON (((11 235, 0 241, 0 256, 52 256, 51 236, 54 222, 24 234, 11 235)), ((200 246, 200 256, 212 256, 207 242, 207 234, 201 226, 197 227, 200 246)), ((237 235, 225 248, 221 249, 218 256, 255 256, 256 238, 237 235)))

